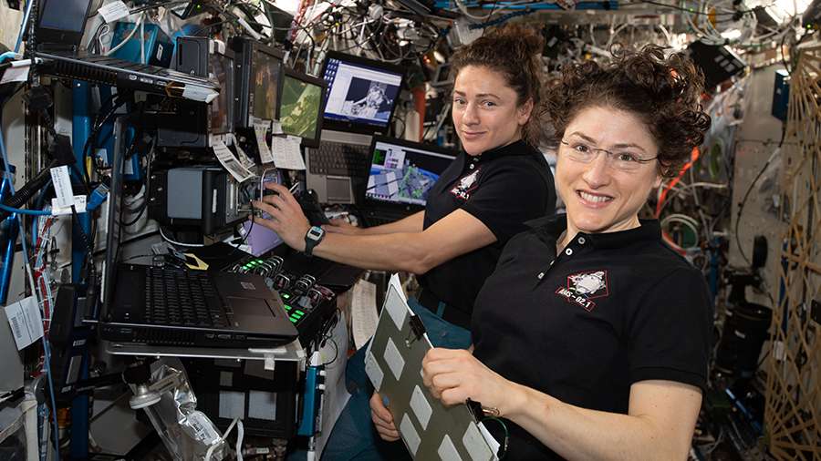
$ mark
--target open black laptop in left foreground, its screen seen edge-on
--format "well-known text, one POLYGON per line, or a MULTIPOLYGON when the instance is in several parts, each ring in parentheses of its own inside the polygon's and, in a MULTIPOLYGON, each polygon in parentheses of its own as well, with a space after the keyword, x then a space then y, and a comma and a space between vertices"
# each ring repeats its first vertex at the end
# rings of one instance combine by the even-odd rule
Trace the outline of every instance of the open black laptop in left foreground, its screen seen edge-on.
POLYGON ((275 347, 296 327, 259 275, 120 262, 125 117, 114 127, 109 221, 99 336, 112 343, 194 347, 275 347), (171 309, 180 305, 179 311, 171 309))

